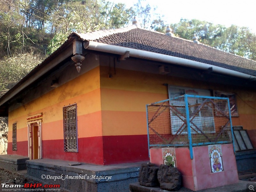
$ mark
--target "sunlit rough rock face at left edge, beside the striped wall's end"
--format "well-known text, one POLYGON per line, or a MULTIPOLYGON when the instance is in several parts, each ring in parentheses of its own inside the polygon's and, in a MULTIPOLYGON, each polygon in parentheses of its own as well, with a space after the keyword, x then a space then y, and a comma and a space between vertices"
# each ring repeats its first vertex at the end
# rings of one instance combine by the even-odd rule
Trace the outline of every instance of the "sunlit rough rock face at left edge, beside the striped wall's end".
POLYGON ((0 155, 7 154, 8 117, 0 117, 0 155))

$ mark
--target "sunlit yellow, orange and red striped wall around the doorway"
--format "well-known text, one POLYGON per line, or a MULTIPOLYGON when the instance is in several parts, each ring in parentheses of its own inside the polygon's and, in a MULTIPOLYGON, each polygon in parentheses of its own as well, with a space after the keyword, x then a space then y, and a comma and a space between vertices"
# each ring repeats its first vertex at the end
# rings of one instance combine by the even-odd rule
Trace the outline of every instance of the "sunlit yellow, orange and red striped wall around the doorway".
POLYGON ((43 158, 102 164, 99 72, 100 68, 96 67, 36 100, 10 111, 9 125, 17 123, 17 151, 12 151, 12 130, 9 130, 8 154, 28 156, 26 117, 43 113, 43 158), (62 108, 74 103, 77 103, 79 153, 64 152, 63 142, 62 108))

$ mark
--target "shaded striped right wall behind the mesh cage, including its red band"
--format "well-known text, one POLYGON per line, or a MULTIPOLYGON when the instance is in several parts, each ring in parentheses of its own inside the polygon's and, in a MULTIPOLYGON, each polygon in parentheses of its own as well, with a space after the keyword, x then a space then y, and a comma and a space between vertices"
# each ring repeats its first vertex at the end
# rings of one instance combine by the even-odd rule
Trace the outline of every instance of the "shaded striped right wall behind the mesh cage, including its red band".
MULTIPOLYGON (((107 66, 100 67, 102 133, 103 138, 106 138, 103 139, 105 162, 122 163, 131 157, 135 161, 147 159, 145 105, 168 99, 168 90, 164 84, 236 92, 244 101, 237 97, 239 117, 232 118, 233 125, 242 125, 249 132, 255 132, 255 110, 248 108, 244 103, 255 107, 255 92, 159 75, 156 72, 134 71, 130 68, 132 67, 116 68, 116 74, 109 78, 106 74, 114 69, 109 69, 107 66)), ((255 141, 253 135, 251 140, 255 141)), ((255 144, 254 142, 254 146, 255 144)))

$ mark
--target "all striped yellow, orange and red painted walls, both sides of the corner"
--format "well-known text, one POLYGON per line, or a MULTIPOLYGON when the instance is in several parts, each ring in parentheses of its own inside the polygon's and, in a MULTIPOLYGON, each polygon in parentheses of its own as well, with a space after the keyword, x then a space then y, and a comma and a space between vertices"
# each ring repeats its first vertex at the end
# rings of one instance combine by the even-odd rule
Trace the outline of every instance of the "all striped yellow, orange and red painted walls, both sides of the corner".
POLYGON ((158 66, 139 61, 105 63, 9 113, 8 154, 28 155, 26 117, 43 113, 43 158, 118 164, 149 160, 146 104, 168 99, 167 86, 236 92, 239 117, 233 125, 256 127, 255 91, 158 74, 158 66), (139 67, 141 66, 141 67, 139 67), (146 66, 146 67, 145 67, 146 66), (109 76, 111 72, 111 76, 109 76), (62 108, 77 103, 78 153, 64 152, 62 108), (251 105, 252 108, 248 107, 251 105), (17 151, 12 151, 12 125, 17 123, 17 151))

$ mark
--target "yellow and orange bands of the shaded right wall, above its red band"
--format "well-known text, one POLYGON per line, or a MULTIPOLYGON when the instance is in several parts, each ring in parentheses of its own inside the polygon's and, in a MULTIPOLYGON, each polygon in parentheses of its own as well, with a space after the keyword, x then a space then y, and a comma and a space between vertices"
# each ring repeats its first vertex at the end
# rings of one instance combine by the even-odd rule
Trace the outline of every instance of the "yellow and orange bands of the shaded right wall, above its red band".
POLYGON ((168 99, 168 89, 163 84, 234 92, 239 117, 232 117, 233 125, 256 129, 256 92, 253 90, 121 68, 116 68, 116 74, 109 78, 109 71, 107 66, 100 67, 102 133, 105 136, 147 134, 146 104, 168 99))

